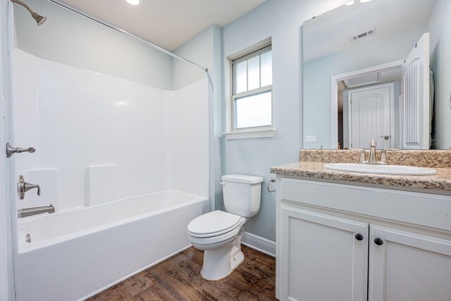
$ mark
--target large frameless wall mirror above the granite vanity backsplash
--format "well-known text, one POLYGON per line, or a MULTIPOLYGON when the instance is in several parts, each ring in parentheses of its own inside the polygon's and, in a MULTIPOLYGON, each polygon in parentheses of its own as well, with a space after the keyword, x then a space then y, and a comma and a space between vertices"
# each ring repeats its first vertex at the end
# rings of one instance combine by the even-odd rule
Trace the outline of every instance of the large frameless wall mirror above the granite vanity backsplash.
POLYGON ((449 16, 449 0, 354 0, 304 22, 304 149, 451 147, 449 16))

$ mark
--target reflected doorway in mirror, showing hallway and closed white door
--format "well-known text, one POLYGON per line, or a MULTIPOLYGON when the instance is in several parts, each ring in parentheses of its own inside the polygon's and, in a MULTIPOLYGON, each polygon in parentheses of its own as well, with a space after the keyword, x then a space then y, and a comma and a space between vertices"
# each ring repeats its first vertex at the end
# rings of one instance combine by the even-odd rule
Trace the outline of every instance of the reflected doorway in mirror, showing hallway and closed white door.
POLYGON ((399 147, 402 62, 333 76, 337 96, 332 101, 343 148, 368 149, 372 139, 379 148, 399 147))

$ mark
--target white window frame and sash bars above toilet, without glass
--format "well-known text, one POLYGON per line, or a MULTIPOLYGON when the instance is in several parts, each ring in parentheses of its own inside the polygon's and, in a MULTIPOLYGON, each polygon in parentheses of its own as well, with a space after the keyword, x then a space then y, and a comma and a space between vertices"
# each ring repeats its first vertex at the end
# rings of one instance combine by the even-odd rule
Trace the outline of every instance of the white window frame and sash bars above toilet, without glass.
MULTIPOLYGON (((242 132, 249 132, 249 131, 259 131, 259 130, 271 130, 272 132, 274 132, 275 130, 273 130, 273 85, 271 83, 271 85, 266 85, 264 87, 258 87, 252 90, 246 90, 245 92, 239 92, 239 93, 235 93, 235 87, 236 87, 236 82, 237 82, 237 70, 236 67, 238 63, 241 63, 243 61, 248 61, 249 59, 252 59, 256 56, 259 57, 259 85, 261 85, 261 54, 265 54, 266 52, 272 51, 272 45, 271 44, 267 44, 264 47, 260 47, 257 50, 251 51, 248 54, 245 54, 243 56, 237 57, 236 59, 230 60, 230 70, 231 70, 231 74, 230 74, 230 118, 229 118, 229 122, 230 122, 230 130, 231 133, 242 133, 242 132), (242 97, 249 97, 252 95, 258 95, 258 94, 263 94, 266 92, 271 92, 271 124, 268 125, 256 125, 256 126, 251 126, 251 127, 245 127, 245 128, 237 128, 236 127, 236 116, 237 116, 237 107, 236 107, 236 100, 240 99, 242 97)), ((272 54, 271 54, 271 67, 272 67, 272 63, 273 63, 273 59, 272 59, 272 54)), ((246 89, 248 87, 248 66, 246 64, 246 89)), ((272 68, 271 68, 272 69, 272 68)), ((273 80, 273 73, 271 71, 271 82, 273 80)), ((268 137, 272 137, 274 133, 272 133, 272 135, 269 135, 268 137)))

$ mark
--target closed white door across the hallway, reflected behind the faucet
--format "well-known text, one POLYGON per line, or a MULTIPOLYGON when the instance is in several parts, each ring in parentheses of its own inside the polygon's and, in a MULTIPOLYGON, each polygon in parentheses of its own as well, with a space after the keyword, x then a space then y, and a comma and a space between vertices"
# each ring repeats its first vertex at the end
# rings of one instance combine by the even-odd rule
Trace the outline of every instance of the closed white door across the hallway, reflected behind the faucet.
POLYGON ((368 148, 371 139, 378 148, 393 148, 393 84, 348 92, 349 145, 368 148))

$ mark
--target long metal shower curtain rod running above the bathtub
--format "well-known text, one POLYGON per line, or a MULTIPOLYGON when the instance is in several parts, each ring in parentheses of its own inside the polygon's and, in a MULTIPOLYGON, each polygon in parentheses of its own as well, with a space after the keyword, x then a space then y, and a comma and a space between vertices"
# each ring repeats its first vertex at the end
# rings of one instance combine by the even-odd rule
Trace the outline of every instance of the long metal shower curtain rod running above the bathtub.
POLYGON ((161 51, 161 52, 163 52, 163 54, 168 54, 169 56, 172 56, 175 59, 179 59, 180 61, 184 61, 186 63, 190 63, 190 64, 192 64, 192 65, 194 65, 194 66, 196 66, 198 68, 201 68, 205 72, 209 71, 209 69, 205 68, 204 66, 200 66, 199 64, 194 63, 193 61, 185 59, 185 58, 183 58, 181 56, 178 56, 177 54, 173 54, 171 51, 168 51, 168 50, 163 49, 163 48, 161 48, 159 46, 156 46, 155 44, 152 44, 151 42, 147 42, 145 39, 141 39, 140 37, 137 37, 136 35, 133 35, 132 33, 128 32, 126 30, 123 30, 123 29, 121 29, 119 27, 116 27, 116 26, 114 26, 114 25, 112 25, 110 23, 106 23, 105 21, 100 20, 100 19, 98 19, 98 18, 96 18, 94 16, 91 16, 88 13, 84 13, 84 12, 78 10, 78 8, 75 8, 73 6, 65 4, 65 3, 61 2, 61 1, 58 1, 58 0, 48 0, 48 1, 50 1, 51 3, 56 4, 58 6, 61 6, 63 8, 66 8, 69 11, 73 11, 74 13, 78 13, 79 15, 84 16, 85 18, 88 18, 89 20, 93 20, 94 22, 97 22, 97 23, 99 23, 101 25, 109 27, 112 30, 116 30, 117 32, 121 32, 123 35, 128 35, 128 37, 131 37, 132 39, 136 39, 138 42, 141 42, 142 44, 146 44, 147 46, 152 47, 153 49, 161 51))

